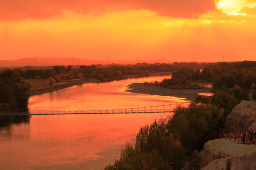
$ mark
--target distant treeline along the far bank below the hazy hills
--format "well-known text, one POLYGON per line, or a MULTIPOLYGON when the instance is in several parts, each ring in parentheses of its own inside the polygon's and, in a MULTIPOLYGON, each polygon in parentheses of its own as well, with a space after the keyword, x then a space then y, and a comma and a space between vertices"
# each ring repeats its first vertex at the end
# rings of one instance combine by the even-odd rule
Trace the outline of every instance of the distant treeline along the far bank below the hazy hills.
POLYGON ((118 80, 127 75, 148 76, 150 72, 172 72, 178 68, 204 68, 205 63, 137 63, 135 65, 76 65, 76 66, 53 66, 53 67, 31 67, 14 68, 14 71, 27 78, 50 78, 61 76, 61 80, 75 78, 98 78, 102 80, 118 80))

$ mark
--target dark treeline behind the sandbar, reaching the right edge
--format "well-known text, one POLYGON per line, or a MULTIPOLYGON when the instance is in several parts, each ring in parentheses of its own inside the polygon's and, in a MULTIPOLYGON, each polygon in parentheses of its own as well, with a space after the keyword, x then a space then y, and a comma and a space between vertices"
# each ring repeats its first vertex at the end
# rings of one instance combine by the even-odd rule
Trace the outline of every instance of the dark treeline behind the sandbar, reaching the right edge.
POLYGON ((256 83, 256 61, 209 63, 201 70, 178 68, 172 78, 151 84, 166 88, 197 88, 192 81, 213 82, 214 90, 233 88, 235 85, 249 90, 256 83))

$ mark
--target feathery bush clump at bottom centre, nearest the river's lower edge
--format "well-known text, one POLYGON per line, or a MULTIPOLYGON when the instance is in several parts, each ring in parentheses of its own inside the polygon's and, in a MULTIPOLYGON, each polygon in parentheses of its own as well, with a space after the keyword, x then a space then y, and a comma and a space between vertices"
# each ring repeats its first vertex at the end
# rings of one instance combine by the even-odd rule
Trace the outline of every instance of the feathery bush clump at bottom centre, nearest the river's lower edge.
POLYGON ((185 152, 172 133, 167 132, 167 119, 155 121, 150 126, 141 127, 136 144, 126 144, 120 159, 104 170, 175 170, 183 166, 185 152))

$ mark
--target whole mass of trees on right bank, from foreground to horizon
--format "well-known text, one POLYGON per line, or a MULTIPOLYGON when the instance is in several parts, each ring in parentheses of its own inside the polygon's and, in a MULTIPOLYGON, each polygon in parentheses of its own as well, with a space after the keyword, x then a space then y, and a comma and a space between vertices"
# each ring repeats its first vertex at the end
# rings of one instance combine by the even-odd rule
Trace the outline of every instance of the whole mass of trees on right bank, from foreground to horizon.
POLYGON ((181 169, 192 151, 218 138, 226 116, 241 100, 248 100, 248 92, 256 92, 256 62, 208 64, 201 72, 177 69, 173 78, 210 81, 214 94, 197 96, 188 108, 176 108, 173 117, 141 127, 135 145, 126 144, 120 159, 104 170, 181 169))

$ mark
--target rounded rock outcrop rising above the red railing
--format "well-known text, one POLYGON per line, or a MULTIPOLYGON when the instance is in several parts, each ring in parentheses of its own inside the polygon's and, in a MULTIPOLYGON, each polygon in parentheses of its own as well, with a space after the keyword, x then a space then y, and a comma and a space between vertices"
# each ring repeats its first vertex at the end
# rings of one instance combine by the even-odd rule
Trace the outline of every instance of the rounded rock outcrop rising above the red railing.
POLYGON ((256 101, 241 101, 227 116, 228 132, 256 131, 256 101))

